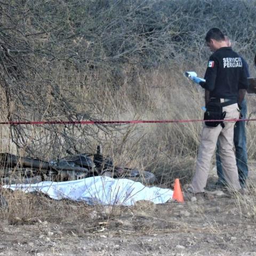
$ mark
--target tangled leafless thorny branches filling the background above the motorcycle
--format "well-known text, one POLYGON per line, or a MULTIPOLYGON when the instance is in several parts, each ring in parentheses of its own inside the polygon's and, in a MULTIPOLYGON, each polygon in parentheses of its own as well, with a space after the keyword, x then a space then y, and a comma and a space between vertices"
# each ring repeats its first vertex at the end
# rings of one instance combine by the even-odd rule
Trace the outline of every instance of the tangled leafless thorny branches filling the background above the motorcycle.
MULTIPOLYGON (((240 53, 255 53, 254 2, 2 0, 2 116, 7 121, 98 120, 105 115, 103 102, 111 99, 95 95, 107 86, 113 93, 122 86, 123 66, 140 70, 171 60, 205 61, 206 18, 221 29, 228 24, 225 32, 241 46, 240 53), (230 20, 228 13, 241 19, 230 20), (246 33, 239 29, 241 23, 246 23, 246 33)), ((132 83, 136 71, 127 75, 132 83)), ((75 146, 83 151, 99 133, 112 136, 118 130, 103 125, 11 126, 13 142, 33 155, 59 155, 75 146)))

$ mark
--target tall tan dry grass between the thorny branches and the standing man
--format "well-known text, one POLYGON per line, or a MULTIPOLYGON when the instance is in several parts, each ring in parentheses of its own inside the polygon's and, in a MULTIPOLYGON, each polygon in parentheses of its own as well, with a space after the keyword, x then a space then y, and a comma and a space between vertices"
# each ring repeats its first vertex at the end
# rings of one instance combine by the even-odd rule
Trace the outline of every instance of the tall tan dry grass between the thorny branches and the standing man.
MULTIPOLYGON (((81 118, 83 119, 83 113, 90 112, 95 118, 106 121, 202 119, 203 90, 183 76, 183 71, 188 70, 186 66, 178 67, 172 64, 170 67, 141 70, 134 74, 132 83, 128 82, 129 77, 127 77, 127 74, 131 73, 130 70, 131 67, 127 67, 127 71, 123 70, 123 83, 119 84, 118 88, 115 88, 113 83, 106 83, 105 86, 97 86, 95 90, 93 86, 86 87, 86 83, 82 82, 84 77, 79 77, 78 74, 70 78, 66 86, 72 88, 75 93, 74 97, 77 98, 78 107, 81 108, 78 108, 81 111, 81 118)), ((99 79, 98 83, 103 84, 105 74, 95 73, 91 76, 96 76, 99 79)), ((64 81, 65 70, 59 70, 54 79, 64 81)), ((63 86, 60 84, 60 89, 63 86)), ((247 99, 248 113, 253 118, 255 99, 253 95, 248 95, 247 99)), ((49 98, 49 105, 52 100, 49 98)), ((59 118, 62 119, 61 116, 59 118)), ((62 125, 54 126, 59 127, 61 134, 62 125)), ((83 130, 89 125, 79 126, 83 130)), ((95 140, 90 139, 90 143, 83 145, 87 152, 94 152, 98 143, 101 143, 103 153, 113 157, 117 165, 151 170, 157 175, 158 180, 166 183, 167 186, 177 177, 186 183, 193 174, 201 122, 128 124, 117 126, 117 129, 107 133, 90 126, 98 137, 94 137, 95 140)), ((246 127, 248 153, 250 158, 254 158, 255 134, 252 131, 255 129, 255 123, 249 122, 246 127)), ((46 149, 53 146, 51 130, 47 131, 37 126, 29 126, 29 129, 30 136, 27 143, 37 141, 38 146, 45 145, 46 148, 41 147, 41 150, 46 153, 46 149)), ((83 140, 83 133, 76 126, 73 127, 73 136, 77 141, 83 140)), ((4 134, 2 138, 2 141, 6 140, 4 134)), ((60 137, 59 142, 63 149, 70 149, 67 147, 65 137, 60 137)), ((42 153, 46 159, 53 159, 55 155, 51 152, 52 150, 47 154, 42 153)))

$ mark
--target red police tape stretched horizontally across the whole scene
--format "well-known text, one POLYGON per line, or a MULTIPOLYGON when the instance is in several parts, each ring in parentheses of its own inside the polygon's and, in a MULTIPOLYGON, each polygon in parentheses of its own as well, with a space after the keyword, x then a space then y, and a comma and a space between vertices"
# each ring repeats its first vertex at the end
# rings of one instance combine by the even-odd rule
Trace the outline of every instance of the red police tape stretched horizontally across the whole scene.
MULTIPOLYGON (((207 122, 216 122, 223 120, 207 120, 207 122)), ((225 122, 241 122, 241 121, 256 121, 256 118, 251 119, 225 119, 225 122)), ((11 121, 11 122, 0 122, 0 125, 41 125, 41 124, 140 124, 140 123, 190 123, 190 122, 204 122, 202 119, 187 119, 187 120, 132 120, 132 121, 11 121)))

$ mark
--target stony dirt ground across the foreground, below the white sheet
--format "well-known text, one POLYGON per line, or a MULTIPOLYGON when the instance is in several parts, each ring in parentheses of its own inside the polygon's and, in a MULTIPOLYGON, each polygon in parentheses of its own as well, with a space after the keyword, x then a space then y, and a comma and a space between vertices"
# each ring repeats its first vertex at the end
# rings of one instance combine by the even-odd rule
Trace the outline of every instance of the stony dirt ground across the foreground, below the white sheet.
MULTIPOLYGON (((184 204, 88 207, 86 214, 81 203, 68 202, 70 214, 63 213, 63 202, 54 203, 59 211, 45 217, 17 213, 2 221, 0 255, 256 255, 251 196, 219 193, 184 204)), ((42 199, 37 197, 32 204, 42 199)))

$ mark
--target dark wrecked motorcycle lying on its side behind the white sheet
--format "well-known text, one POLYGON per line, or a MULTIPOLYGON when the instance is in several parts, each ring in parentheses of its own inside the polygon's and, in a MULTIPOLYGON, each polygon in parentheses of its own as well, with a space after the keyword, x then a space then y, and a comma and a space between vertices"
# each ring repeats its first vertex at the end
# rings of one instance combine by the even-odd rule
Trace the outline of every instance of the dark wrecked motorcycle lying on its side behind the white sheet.
POLYGON ((37 183, 40 181, 79 180, 96 175, 126 178, 148 185, 156 177, 148 171, 115 166, 113 159, 102 155, 101 147, 95 154, 71 154, 57 161, 19 157, 9 153, 0 154, 2 184, 37 183))

